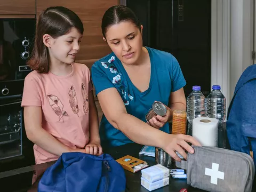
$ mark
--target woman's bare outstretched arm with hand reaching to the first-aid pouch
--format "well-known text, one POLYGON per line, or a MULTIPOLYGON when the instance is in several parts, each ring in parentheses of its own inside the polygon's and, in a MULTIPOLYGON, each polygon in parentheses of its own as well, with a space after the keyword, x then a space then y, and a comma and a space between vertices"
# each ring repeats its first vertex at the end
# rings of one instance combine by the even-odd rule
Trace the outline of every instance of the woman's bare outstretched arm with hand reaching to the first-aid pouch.
POLYGON ((101 91, 98 94, 98 99, 109 123, 134 142, 141 145, 161 147, 177 161, 180 161, 180 158, 175 154, 175 151, 178 151, 183 157, 187 157, 182 147, 189 153, 194 153, 194 149, 186 141, 193 145, 200 145, 189 135, 167 134, 127 114, 123 100, 115 88, 101 91))

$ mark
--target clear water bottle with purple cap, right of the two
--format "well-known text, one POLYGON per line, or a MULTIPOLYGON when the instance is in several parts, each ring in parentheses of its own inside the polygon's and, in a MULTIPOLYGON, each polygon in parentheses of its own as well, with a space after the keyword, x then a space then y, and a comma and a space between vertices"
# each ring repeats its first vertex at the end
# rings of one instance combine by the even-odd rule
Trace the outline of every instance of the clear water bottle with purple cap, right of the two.
POLYGON ((220 89, 220 85, 213 85, 212 92, 206 98, 207 117, 217 118, 219 120, 218 147, 226 148, 226 134, 223 130, 223 122, 226 119, 226 98, 220 89))

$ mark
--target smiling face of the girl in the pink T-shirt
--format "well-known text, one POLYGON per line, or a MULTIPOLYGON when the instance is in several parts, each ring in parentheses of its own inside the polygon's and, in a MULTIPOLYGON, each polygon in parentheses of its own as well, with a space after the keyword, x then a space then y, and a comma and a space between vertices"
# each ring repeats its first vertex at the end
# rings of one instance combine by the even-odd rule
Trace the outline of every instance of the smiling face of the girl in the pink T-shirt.
POLYGON ((49 37, 45 45, 49 47, 51 62, 73 63, 79 51, 81 39, 81 33, 74 27, 66 35, 55 39, 49 37))

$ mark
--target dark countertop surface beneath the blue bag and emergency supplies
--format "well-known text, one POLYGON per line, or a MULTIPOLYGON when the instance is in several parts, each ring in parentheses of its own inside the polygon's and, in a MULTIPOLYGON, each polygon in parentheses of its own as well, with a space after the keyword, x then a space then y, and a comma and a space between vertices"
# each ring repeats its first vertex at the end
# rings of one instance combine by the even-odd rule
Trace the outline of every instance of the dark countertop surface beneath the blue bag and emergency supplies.
MULTIPOLYGON (((129 143, 124 146, 115 147, 105 151, 105 153, 110 154, 113 158, 118 159, 124 157, 125 155, 131 155, 136 158, 140 158, 143 161, 146 161, 149 166, 155 165, 155 158, 139 155, 139 151, 143 146, 137 143, 129 143)), ((37 183, 31 185, 33 171, 44 171, 47 167, 50 167, 55 162, 48 162, 42 163, 38 165, 23 167, 16 170, 11 170, 7 172, 0 173, 0 191, 37 191, 37 183)), ((173 168, 175 168, 173 166, 173 168)), ((126 175, 126 182, 127 182, 127 189, 126 191, 134 192, 134 191, 141 191, 147 192, 148 190, 145 189, 140 185, 141 181, 141 171, 137 173, 132 173, 125 170, 126 175)), ((170 178, 169 186, 165 186, 163 188, 159 188, 154 190, 155 192, 167 192, 167 191, 180 191, 182 188, 187 188, 188 191, 202 191, 199 189, 195 189, 187 185, 186 179, 172 179, 170 178)))

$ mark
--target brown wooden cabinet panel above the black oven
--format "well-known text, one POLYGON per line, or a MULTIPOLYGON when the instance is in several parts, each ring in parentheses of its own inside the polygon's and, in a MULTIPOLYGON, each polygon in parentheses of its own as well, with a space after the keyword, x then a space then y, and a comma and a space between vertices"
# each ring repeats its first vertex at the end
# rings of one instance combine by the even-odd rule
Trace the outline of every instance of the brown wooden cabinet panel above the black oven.
POLYGON ((36 0, 0 0, 0 14, 36 14, 36 0))

